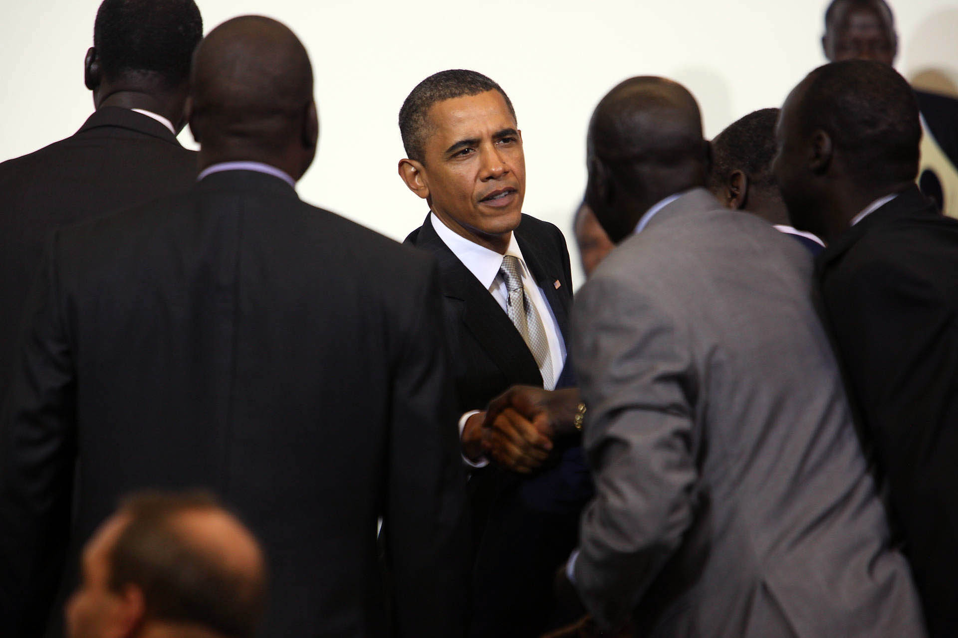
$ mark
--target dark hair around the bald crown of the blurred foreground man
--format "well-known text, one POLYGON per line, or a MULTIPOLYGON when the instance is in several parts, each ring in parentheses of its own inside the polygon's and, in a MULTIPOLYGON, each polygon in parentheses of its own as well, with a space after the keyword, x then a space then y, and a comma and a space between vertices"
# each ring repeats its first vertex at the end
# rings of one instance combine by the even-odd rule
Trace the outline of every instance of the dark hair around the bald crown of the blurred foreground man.
POLYGON ((110 589, 137 585, 148 618, 197 625, 230 638, 253 638, 262 616, 262 577, 236 574, 221 559, 194 547, 176 526, 179 515, 220 509, 204 492, 128 497, 120 511, 129 520, 108 555, 110 589))

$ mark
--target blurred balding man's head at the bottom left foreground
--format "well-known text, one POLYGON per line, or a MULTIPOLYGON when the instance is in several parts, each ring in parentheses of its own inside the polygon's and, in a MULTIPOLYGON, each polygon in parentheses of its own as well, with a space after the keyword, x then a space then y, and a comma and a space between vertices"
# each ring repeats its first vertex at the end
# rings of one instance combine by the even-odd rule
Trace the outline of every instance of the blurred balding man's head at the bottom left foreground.
POLYGON ((87 542, 70 638, 253 638, 266 565, 256 539, 200 493, 127 498, 87 542))

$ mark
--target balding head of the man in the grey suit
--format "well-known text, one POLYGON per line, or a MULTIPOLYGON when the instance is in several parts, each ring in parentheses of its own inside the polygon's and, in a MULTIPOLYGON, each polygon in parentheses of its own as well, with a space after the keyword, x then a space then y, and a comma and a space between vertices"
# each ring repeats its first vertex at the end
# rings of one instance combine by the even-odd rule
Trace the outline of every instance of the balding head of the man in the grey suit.
POLYGON ((632 77, 589 122, 586 202, 618 243, 657 201, 704 186, 708 156, 692 94, 662 77, 632 77))

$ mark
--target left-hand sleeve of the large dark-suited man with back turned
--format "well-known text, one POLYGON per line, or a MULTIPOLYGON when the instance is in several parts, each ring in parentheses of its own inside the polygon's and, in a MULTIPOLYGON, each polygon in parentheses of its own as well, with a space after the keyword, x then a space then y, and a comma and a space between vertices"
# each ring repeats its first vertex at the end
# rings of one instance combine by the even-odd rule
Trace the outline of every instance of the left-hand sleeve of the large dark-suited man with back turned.
POLYGON ((9 636, 41 633, 70 529, 76 375, 61 303, 51 248, 0 421, 0 626, 9 636))

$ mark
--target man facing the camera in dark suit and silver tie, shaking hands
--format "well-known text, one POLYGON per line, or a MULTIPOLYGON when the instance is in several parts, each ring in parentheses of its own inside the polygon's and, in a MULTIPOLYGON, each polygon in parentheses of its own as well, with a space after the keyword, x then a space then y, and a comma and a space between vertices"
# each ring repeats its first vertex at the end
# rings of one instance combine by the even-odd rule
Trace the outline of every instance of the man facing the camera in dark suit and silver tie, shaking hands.
MULTIPOLYGON (((559 229, 522 214, 522 135, 512 102, 489 77, 427 77, 405 99, 399 129, 408 156, 399 176, 430 210, 406 243, 439 260, 463 453, 478 468, 490 449, 483 410, 493 397, 516 384, 564 383, 569 253, 559 229)), ((536 447, 512 459, 515 472, 490 467, 470 478, 470 633, 537 635, 551 611, 551 575, 575 544, 587 472, 575 435, 553 442, 524 422, 499 429, 536 447), (520 480, 550 451, 550 472, 520 480)))

